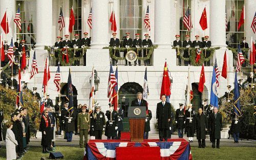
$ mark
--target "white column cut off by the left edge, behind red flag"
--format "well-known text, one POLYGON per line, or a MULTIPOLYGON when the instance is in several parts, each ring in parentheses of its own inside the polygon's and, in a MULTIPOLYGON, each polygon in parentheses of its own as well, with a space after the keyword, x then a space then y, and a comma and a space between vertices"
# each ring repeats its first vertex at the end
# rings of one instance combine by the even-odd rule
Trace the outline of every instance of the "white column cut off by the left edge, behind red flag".
POLYGON ((9 25, 9 33, 7 35, 5 35, 4 30, 1 28, 0 30, 0 34, 3 32, 3 38, 4 40, 7 39, 8 40, 8 44, 11 42, 11 38, 13 37, 13 42, 16 41, 16 35, 15 34, 15 26, 14 26, 14 22, 13 19, 15 17, 15 13, 16 13, 16 7, 15 7, 15 1, 14 0, 0 0, 0 22, 2 21, 4 15, 5 15, 5 11, 7 8, 7 17, 8 17, 8 25, 9 25))

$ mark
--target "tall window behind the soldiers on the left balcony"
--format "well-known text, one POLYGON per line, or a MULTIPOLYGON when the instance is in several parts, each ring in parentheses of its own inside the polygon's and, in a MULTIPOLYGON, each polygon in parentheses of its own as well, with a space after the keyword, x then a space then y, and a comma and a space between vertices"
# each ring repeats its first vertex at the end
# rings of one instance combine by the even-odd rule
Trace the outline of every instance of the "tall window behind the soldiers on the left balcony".
MULTIPOLYGON (((79 34, 81 39, 82 34, 82 2, 81 0, 70 0, 70 10, 73 6, 74 16, 75 16, 75 25, 74 25, 74 34, 79 34)), ((72 36, 71 36, 72 37, 72 36)))

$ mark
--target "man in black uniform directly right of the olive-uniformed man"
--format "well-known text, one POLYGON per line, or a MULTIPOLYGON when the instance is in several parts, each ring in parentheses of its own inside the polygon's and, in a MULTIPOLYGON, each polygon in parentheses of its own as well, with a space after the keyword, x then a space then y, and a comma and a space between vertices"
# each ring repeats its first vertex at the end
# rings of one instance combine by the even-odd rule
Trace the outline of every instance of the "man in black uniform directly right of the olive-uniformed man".
POLYGON ((95 107, 95 112, 93 115, 93 130, 95 132, 95 139, 102 139, 102 131, 105 130, 105 116, 102 111, 100 111, 100 106, 95 107))

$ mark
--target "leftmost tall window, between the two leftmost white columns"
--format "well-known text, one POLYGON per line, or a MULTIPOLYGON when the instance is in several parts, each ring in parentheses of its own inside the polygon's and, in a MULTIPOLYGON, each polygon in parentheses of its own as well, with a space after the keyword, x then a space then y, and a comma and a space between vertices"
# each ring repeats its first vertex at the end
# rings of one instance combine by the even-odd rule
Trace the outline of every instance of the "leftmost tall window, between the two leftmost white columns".
MULTIPOLYGON (((36 43, 36 1, 16 1, 15 13, 20 5, 20 21, 22 31, 19 32, 16 24, 16 37, 26 40, 29 48, 34 48, 36 43)), ((15 41, 15 39, 13 39, 15 41)))

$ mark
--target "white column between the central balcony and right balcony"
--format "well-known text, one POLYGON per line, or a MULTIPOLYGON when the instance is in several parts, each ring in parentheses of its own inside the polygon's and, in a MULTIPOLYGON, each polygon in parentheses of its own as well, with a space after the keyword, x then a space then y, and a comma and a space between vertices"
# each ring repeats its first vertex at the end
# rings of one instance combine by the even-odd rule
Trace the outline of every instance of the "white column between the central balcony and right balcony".
POLYGON ((155 44, 158 44, 158 48, 171 47, 171 34, 174 32, 171 28, 176 27, 176 17, 171 16, 171 9, 174 8, 172 5, 174 0, 158 0, 155 3, 155 44))

